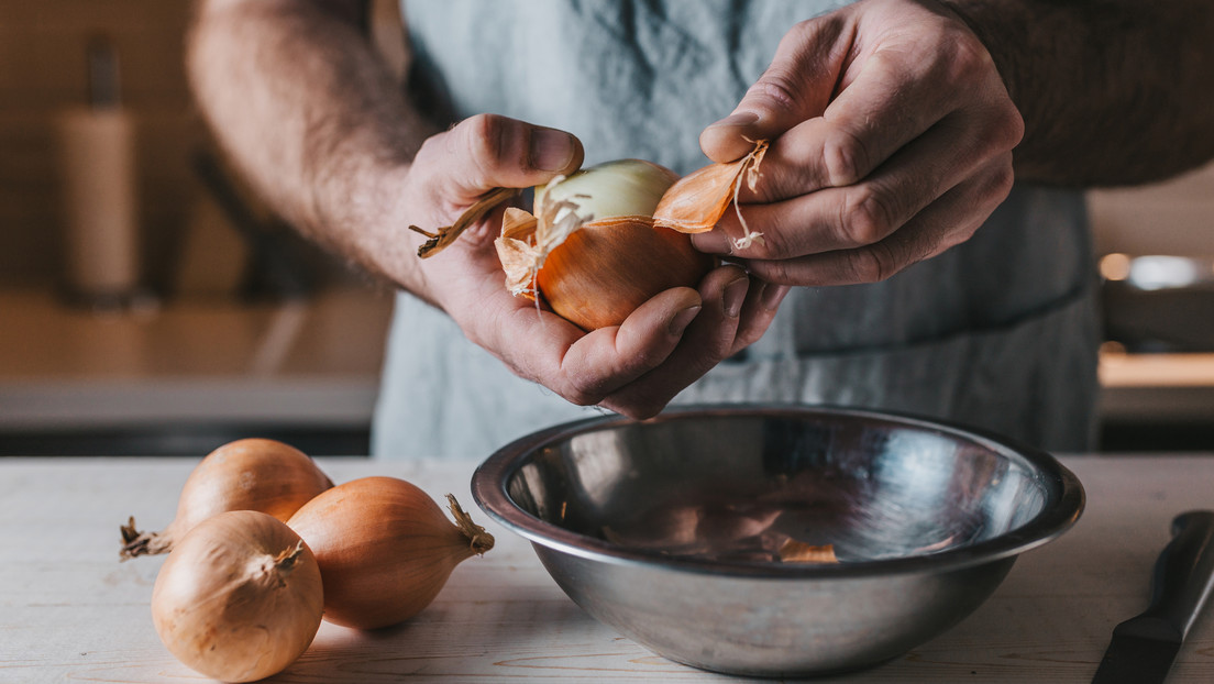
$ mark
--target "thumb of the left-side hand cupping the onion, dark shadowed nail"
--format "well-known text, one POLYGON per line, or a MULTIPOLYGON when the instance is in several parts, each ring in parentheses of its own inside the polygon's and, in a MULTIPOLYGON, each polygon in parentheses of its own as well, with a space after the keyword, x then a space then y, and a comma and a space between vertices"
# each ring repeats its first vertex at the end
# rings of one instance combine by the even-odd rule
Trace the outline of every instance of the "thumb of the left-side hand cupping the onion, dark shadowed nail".
POLYGON ((471 197, 572 174, 585 153, 573 135, 498 114, 477 114, 446 134, 447 182, 471 197))

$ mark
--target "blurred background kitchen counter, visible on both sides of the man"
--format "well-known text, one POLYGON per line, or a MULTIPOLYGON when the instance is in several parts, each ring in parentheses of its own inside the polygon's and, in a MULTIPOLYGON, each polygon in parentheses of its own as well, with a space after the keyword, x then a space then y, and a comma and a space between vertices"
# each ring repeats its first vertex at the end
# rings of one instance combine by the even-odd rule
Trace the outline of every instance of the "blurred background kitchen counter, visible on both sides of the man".
MULTIPOLYGON (((124 313, 0 289, 0 454, 72 454, 56 439, 73 434, 89 453, 199 453, 249 433, 367 453, 391 310, 391 292, 357 283, 279 304, 193 299, 124 313), (131 442, 158 433, 176 443, 131 442)), ((1130 426, 1116 437, 1124 446, 1185 448, 1157 442, 1193 426, 1198 441, 1214 434, 1214 354, 1110 351, 1100 378, 1102 420, 1130 426)))

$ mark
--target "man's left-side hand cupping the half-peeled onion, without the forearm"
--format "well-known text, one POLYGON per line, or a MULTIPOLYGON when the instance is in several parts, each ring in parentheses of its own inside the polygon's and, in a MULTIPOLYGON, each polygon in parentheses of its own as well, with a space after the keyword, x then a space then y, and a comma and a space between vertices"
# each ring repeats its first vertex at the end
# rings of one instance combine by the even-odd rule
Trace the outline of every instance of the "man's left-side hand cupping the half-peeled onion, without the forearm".
MULTIPOLYGON (((492 188, 539 185, 580 163, 580 143, 568 134, 472 117, 421 146, 402 183, 397 222, 450 225, 492 188)), ((506 290, 493 247, 500 215, 490 214, 420 264, 425 284, 419 294, 516 374, 573 403, 632 418, 657 414, 680 390, 759 339, 787 292, 724 266, 698 289, 669 289, 623 324, 584 333, 506 290)), ((409 233, 407 239, 418 238, 409 233)))

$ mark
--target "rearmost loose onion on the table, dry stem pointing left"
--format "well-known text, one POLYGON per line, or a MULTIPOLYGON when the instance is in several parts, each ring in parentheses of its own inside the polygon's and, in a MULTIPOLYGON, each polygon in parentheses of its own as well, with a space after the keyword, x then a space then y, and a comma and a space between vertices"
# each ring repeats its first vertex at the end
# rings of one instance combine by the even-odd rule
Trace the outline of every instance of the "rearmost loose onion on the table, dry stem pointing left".
POLYGON ((257 510, 285 521, 333 481, 297 448, 274 440, 226 443, 189 474, 177 514, 161 532, 140 532, 131 518, 123 531, 121 558, 161 554, 195 525, 228 510, 257 510))

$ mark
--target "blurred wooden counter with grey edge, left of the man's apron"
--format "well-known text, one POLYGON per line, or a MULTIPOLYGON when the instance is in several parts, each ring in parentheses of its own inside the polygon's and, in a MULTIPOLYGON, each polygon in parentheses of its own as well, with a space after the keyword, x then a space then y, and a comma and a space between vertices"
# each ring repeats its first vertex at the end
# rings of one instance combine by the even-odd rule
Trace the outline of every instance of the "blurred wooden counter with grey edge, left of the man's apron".
POLYGON ((0 440, 186 426, 364 433, 391 309, 390 292, 357 284, 124 312, 0 290, 0 440))

